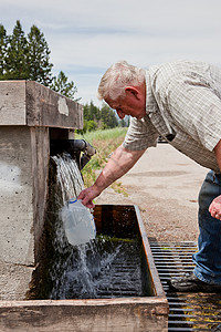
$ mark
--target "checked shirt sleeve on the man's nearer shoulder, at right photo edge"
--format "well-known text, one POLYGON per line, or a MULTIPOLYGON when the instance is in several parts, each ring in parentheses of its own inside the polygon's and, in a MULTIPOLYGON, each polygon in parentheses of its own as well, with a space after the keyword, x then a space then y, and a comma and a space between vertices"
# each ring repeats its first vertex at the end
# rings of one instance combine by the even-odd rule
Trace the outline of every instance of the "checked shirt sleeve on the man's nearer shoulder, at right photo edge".
POLYGON ((161 97, 172 121, 212 151, 221 139, 221 100, 202 77, 173 77, 161 97))

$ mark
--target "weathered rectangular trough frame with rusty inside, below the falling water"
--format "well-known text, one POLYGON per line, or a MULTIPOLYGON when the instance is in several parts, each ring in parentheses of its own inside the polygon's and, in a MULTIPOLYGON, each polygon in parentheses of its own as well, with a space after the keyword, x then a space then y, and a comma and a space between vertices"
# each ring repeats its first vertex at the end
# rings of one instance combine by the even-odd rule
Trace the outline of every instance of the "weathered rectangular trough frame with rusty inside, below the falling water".
POLYGON ((168 301, 137 206, 96 206, 97 234, 140 239, 149 295, 0 302, 0 331, 166 332, 168 301))

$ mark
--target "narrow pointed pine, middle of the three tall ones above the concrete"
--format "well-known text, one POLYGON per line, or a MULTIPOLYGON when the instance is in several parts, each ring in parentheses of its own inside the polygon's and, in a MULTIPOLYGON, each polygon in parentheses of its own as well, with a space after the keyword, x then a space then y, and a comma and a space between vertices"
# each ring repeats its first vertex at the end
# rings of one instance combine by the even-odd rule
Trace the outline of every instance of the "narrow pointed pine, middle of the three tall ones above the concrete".
POLYGON ((28 42, 20 21, 8 38, 4 80, 27 80, 28 71, 28 42))

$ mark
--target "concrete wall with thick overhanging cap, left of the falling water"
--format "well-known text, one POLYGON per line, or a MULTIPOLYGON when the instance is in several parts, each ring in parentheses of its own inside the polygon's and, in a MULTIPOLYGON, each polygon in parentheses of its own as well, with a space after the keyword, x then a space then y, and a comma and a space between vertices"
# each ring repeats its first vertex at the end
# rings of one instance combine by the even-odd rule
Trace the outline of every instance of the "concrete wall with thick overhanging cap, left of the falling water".
POLYGON ((0 82, 0 299, 23 299, 39 263, 50 132, 82 126, 83 107, 70 98, 35 82, 0 82))

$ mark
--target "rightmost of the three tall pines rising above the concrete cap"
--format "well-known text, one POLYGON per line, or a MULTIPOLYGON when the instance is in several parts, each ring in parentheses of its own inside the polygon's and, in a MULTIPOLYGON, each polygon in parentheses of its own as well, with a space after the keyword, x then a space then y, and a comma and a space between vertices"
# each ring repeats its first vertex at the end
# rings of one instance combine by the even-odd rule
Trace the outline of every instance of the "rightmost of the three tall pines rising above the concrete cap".
POLYGON ((50 50, 44 34, 35 25, 31 27, 28 34, 29 52, 28 68, 29 80, 36 81, 45 86, 52 83, 52 66, 50 63, 50 50))

